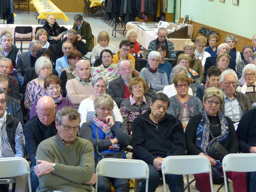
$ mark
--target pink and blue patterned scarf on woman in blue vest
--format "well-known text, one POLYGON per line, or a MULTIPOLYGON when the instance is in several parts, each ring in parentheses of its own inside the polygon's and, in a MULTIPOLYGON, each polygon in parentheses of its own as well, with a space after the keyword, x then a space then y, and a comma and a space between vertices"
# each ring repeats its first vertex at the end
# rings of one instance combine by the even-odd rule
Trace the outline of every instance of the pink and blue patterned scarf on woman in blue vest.
MULTIPOLYGON (((105 135, 105 139, 114 139, 114 135, 113 135, 112 131, 110 130, 110 126, 108 126, 103 121, 99 120, 97 117, 97 114, 94 114, 91 121, 94 123, 94 125, 96 127, 101 129, 101 131, 105 135)), ((108 149, 110 149, 110 150, 112 149, 114 151, 119 151, 119 148, 120 147, 118 146, 118 144, 112 144, 112 146, 110 146, 108 149)))

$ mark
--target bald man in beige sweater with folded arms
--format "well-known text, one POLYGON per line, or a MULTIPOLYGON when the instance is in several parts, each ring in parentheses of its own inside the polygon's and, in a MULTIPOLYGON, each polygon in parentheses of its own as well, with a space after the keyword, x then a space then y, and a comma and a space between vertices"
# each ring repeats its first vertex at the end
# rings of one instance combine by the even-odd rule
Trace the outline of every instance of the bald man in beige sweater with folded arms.
POLYGON ((86 60, 80 60, 76 64, 78 77, 68 80, 66 83, 67 98, 73 103, 75 108, 79 108, 80 103, 92 95, 90 77, 91 66, 86 60))

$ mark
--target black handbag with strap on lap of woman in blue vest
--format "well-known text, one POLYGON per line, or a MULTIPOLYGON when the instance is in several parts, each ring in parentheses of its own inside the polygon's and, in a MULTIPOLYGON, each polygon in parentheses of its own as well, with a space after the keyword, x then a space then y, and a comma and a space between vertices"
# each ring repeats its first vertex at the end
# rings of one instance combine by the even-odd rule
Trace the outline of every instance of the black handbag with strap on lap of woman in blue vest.
POLYGON ((97 163, 104 159, 104 158, 116 158, 116 159, 124 159, 123 157, 123 150, 119 151, 118 153, 101 153, 98 150, 98 146, 99 146, 99 138, 98 138, 98 128, 96 126, 95 127, 95 131, 96 131, 96 137, 97 137, 97 147, 96 147, 96 159, 97 159, 97 163))

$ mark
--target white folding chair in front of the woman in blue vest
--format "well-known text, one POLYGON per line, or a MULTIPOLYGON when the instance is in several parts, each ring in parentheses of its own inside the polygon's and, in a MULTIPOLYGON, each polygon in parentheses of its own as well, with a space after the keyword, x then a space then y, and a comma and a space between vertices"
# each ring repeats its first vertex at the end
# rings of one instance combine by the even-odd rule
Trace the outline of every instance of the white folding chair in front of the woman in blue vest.
MULTIPOLYGON (((113 178, 144 178, 146 179, 146 192, 148 192, 149 166, 142 160, 105 158, 98 162, 96 174, 113 178)), ((95 192, 97 190, 98 178, 95 192)))

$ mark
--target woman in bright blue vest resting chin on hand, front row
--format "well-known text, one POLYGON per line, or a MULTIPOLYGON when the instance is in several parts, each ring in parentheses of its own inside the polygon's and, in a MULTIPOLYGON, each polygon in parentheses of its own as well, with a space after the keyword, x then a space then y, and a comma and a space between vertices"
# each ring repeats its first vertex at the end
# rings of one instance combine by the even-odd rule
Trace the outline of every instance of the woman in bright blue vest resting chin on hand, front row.
MULTIPOLYGON (((110 95, 101 94, 97 96, 94 100, 96 114, 94 114, 91 121, 82 124, 79 132, 79 137, 91 141, 94 146, 95 167, 102 159, 97 151, 114 154, 123 150, 123 157, 126 158, 123 147, 128 146, 131 142, 126 126, 119 121, 114 121, 112 117, 113 108, 114 101, 110 95)), ((98 191, 111 192, 110 183, 112 183, 116 192, 129 192, 129 182, 129 179, 100 176, 98 178, 98 191)))

